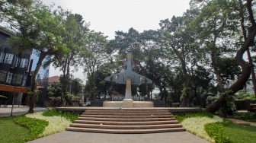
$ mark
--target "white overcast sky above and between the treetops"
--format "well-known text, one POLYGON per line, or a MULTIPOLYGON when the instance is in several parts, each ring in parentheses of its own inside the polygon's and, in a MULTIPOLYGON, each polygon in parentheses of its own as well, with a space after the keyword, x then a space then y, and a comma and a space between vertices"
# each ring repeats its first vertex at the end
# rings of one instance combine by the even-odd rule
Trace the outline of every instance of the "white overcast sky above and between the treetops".
MULTIPOLYGON (((104 33, 114 39, 115 31, 127 32, 131 27, 139 32, 159 29, 159 22, 173 15, 181 16, 189 8, 190 0, 43 0, 55 3, 72 13, 81 14, 90 22, 90 30, 104 33)), ((59 69, 50 67, 50 77, 61 75, 59 69)), ((85 79, 82 69, 73 73, 85 79)))

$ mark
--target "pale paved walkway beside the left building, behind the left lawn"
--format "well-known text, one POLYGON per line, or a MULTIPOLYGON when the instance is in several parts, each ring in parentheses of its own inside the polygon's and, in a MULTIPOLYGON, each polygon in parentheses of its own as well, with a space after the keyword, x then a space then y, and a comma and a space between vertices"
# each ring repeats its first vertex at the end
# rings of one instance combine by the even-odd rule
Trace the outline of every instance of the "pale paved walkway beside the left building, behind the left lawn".
MULTIPOLYGON (((12 115, 13 116, 19 116, 19 115, 23 115, 26 114, 27 111, 29 110, 29 106, 18 106, 18 105, 14 105, 14 108, 12 110, 12 115)), ((35 107, 34 108, 34 112, 40 112, 40 111, 46 111, 46 108, 42 108, 42 107, 35 107)), ((0 107, 0 116, 11 116, 11 105, 8 105, 7 107, 0 107)))

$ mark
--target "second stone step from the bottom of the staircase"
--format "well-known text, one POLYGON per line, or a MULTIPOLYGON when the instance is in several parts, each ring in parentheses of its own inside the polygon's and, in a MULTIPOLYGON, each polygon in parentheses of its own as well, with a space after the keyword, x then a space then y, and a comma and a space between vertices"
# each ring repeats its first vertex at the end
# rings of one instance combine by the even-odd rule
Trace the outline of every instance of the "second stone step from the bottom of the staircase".
POLYGON ((164 129, 164 128, 181 128, 181 124, 161 124, 161 125, 136 125, 136 126, 119 126, 119 125, 104 125, 104 124, 83 124, 72 123, 70 127, 79 128, 94 128, 94 129, 164 129))

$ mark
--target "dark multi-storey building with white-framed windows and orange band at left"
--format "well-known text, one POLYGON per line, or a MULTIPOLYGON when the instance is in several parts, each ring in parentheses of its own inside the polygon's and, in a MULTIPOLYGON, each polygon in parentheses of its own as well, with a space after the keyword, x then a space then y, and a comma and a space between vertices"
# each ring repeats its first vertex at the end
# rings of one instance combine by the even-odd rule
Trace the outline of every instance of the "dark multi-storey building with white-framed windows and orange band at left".
POLYGON ((24 94, 30 87, 30 70, 33 60, 30 60, 32 50, 16 53, 6 44, 8 37, 14 33, 0 27, 0 104, 21 104, 24 94), (8 102, 8 103, 7 103, 8 102))

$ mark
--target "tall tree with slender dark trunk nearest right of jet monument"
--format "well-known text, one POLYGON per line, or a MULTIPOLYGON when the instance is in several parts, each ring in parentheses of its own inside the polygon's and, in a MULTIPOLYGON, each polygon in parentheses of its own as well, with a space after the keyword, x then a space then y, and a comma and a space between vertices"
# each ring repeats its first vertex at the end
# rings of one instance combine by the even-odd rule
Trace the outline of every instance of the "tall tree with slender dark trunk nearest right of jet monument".
POLYGON ((197 36, 194 33, 189 22, 194 18, 197 12, 187 11, 182 17, 172 17, 161 21, 162 31, 162 45, 170 53, 169 56, 175 56, 176 60, 180 62, 181 69, 184 74, 185 86, 181 94, 181 106, 187 106, 188 98, 191 96, 191 77, 188 73, 187 66, 191 62, 198 60, 198 46, 196 43, 197 36))

